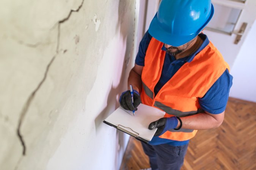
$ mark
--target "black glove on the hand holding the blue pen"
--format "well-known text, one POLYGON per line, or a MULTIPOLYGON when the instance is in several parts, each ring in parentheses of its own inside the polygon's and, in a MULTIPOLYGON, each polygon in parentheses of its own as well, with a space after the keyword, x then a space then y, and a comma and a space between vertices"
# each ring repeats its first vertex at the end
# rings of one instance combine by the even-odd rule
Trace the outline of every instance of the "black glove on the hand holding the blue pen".
POLYGON ((124 91, 119 98, 120 105, 126 110, 137 110, 138 105, 141 103, 140 94, 138 91, 133 90, 133 104, 130 90, 124 91))

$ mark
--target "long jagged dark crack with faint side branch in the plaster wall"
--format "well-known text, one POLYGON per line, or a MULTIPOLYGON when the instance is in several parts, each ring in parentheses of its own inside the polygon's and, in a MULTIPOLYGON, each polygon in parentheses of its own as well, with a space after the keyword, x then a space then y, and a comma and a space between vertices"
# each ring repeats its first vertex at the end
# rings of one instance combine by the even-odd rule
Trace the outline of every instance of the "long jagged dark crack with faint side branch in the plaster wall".
MULTIPOLYGON (((60 25, 61 25, 61 23, 66 22, 66 21, 70 18, 72 12, 79 12, 79 10, 80 10, 80 9, 82 8, 82 6, 83 6, 83 2, 84 2, 84 0, 82 0, 82 3, 79 5, 79 7, 78 7, 77 9, 75 9, 75 10, 71 9, 71 11, 69 12, 69 14, 68 14, 67 17, 65 17, 64 19, 58 21, 58 37, 57 37, 56 54, 55 54, 55 56, 52 57, 52 59, 51 59, 50 62, 48 63, 48 65, 47 65, 47 67, 46 67, 46 71, 45 71, 45 73, 44 73, 43 79, 39 82, 39 84, 38 84, 38 86, 36 87, 36 89, 30 94, 30 96, 29 96, 28 99, 27 99, 27 102, 25 103, 25 105, 24 105, 24 107, 23 107, 23 109, 22 109, 22 111, 21 111, 21 113, 20 113, 19 124, 18 124, 18 127, 17 127, 17 136, 19 137, 19 140, 20 140, 20 142, 21 142, 21 144, 22 144, 22 147, 23 147, 22 155, 26 155, 26 145, 25 145, 25 141, 24 141, 24 139, 23 139, 23 136, 22 136, 22 134, 21 134, 21 132, 20 132, 20 127, 21 127, 21 125, 22 125, 22 122, 23 122, 23 120, 24 120, 25 115, 27 114, 27 111, 28 111, 28 108, 30 107, 30 104, 31 104, 32 100, 33 100, 34 97, 35 97, 36 92, 40 89, 40 87, 42 86, 42 84, 43 84, 44 81, 46 80, 47 74, 48 74, 48 71, 49 71, 49 68, 50 68, 50 66, 52 65, 53 61, 55 60, 55 57, 56 57, 56 56, 58 55, 58 53, 59 53, 59 46, 60 46, 60 25)), ((26 44, 26 43, 23 43, 23 42, 22 42, 22 44, 27 45, 27 46, 29 46, 29 47, 36 47, 36 46, 38 46, 40 43, 36 43, 35 45, 31 45, 31 44, 26 44)), ((19 162, 18 162, 18 164, 19 164, 19 162)), ((17 165, 16 165, 16 167, 17 167, 17 165)))

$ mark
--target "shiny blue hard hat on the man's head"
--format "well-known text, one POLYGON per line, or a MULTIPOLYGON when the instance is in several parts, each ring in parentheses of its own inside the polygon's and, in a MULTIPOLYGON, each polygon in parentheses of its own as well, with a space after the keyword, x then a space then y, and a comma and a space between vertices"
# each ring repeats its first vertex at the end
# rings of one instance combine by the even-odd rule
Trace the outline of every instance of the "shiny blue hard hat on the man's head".
POLYGON ((160 42, 180 46, 195 38, 213 14, 211 0, 161 0, 149 34, 160 42))

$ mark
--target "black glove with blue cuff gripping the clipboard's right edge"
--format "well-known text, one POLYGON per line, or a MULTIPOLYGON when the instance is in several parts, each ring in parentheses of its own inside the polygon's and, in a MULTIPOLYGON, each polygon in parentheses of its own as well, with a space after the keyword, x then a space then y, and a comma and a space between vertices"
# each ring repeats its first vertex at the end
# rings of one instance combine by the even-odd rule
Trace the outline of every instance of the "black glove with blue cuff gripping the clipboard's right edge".
POLYGON ((151 122, 148 126, 149 130, 157 128, 154 136, 160 136, 169 129, 174 129, 178 125, 177 117, 162 117, 161 119, 151 122))

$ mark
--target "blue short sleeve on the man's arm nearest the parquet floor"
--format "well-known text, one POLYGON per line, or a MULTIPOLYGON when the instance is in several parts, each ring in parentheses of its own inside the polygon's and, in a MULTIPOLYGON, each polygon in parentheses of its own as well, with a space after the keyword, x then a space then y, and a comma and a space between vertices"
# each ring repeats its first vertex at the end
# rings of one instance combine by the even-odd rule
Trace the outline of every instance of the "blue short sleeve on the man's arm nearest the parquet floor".
POLYGON ((232 80, 233 77, 227 69, 207 91, 204 97, 199 98, 201 108, 212 114, 220 114, 225 111, 232 80))

